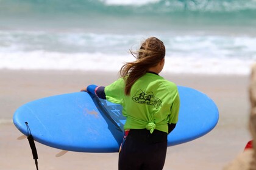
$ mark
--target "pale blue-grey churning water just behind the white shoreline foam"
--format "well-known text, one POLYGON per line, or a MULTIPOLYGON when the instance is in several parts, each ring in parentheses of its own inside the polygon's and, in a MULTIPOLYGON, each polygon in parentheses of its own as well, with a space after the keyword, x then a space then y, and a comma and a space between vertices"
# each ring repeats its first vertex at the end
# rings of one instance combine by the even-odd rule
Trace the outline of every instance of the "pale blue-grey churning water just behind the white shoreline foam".
MULTIPOLYGON (((84 32, 0 32, 0 52, 105 53, 124 55, 136 50, 150 35, 122 35, 84 32)), ((227 35, 158 34, 166 46, 166 54, 183 58, 240 58, 256 60, 256 38, 227 35), (191 46, 193 44, 193 46, 191 46)))

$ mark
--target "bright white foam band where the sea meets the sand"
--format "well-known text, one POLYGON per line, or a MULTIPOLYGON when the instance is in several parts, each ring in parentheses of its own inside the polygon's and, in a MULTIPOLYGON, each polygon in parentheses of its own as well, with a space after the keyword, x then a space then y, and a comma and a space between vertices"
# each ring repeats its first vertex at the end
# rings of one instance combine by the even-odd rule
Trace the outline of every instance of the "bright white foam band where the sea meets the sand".
MULTIPOLYGON (((134 60, 131 55, 105 55, 103 53, 19 52, 0 53, 1 69, 26 70, 97 70, 117 72, 125 63, 134 60)), ((166 56, 163 72, 199 74, 247 75, 252 60, 238 58, 197 58, 196 56, 166 56)))

